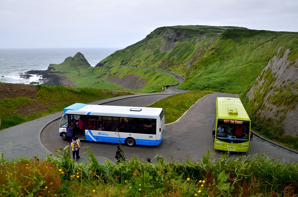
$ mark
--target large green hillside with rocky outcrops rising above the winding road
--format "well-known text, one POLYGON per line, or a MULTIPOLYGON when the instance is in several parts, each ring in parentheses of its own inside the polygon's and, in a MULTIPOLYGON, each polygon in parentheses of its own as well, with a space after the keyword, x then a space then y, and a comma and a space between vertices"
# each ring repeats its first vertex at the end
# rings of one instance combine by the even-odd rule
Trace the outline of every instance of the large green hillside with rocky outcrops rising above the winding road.
POLYGON ((285 142, 297 142, 298 147, 298 133, 292 129, 298 126, 294 121, 298 118, 297 59, 297 32, 170 26, 155 29, 145 39, 116 51, 96 67, 158 68, 184 76, 180 89, 238 94, 254 129, 272 140, 283 136, 285 142), (264 70, 266 66, 269 68, 264 70), (252 90, 258 77, 262 88, 255 88, 258 85, 255 84, 252 90), (254 93, 249 96, 250 90, 254 93))

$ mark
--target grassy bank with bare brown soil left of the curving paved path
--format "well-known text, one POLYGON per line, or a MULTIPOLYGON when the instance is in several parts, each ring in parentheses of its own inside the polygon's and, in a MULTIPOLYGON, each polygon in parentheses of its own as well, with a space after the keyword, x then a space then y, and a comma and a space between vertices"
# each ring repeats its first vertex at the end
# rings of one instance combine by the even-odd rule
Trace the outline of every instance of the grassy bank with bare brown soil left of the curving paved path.
POLYGON ((37 89, 34 98, 19 96, 0 99, 0 129, 28 122, 63 110, 74 103, 88 103, 103 98, 130 94, 95 88, 32 85, 37 89), (21 115, 20 115, 21 114, 21 115))

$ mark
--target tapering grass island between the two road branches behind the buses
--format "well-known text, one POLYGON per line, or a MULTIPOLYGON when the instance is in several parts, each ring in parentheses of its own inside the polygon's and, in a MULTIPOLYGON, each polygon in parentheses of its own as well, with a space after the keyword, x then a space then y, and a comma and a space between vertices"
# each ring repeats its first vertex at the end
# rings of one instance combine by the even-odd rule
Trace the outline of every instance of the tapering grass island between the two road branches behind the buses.
POLYGON ((192 91, 181 94, 174 94, 164 98, 147 107, 160 107, 164 110, 164 123, 175 122, 186 112, 198 99, 207 94, 212 94, 210 91, 192 91))

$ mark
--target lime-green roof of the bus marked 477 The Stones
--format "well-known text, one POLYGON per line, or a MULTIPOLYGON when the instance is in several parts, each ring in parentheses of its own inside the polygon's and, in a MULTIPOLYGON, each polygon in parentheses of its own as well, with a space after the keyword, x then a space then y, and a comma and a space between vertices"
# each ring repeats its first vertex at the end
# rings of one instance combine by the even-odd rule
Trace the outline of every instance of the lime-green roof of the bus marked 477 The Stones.
POLYGON ((239 98, 217 97, 217 117, 220 119, 240 119, 250 121, 239 98))

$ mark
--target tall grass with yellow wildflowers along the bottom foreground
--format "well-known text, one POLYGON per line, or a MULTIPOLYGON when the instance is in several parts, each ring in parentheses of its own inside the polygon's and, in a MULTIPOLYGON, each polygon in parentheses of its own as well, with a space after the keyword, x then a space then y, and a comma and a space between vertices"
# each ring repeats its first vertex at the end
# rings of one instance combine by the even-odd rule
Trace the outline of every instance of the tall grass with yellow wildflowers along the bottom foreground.
POLYGON ((216 162, 208 150, 201 161, 158 163, 131 158, 77 163, 61 148, 47 159, 0 158, 1 196, 297 196, 298 164, 282 164, 264 154, 216 162), (60 154, 61 151, 61 154, 60 154))

